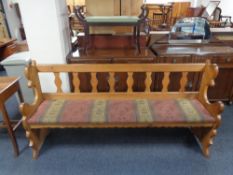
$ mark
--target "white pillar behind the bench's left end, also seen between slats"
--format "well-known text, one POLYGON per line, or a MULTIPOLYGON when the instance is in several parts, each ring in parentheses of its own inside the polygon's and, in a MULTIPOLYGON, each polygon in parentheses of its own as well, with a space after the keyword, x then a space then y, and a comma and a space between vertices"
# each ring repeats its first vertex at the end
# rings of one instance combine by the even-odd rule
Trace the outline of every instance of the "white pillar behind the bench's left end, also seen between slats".
MULTIPOLYGON (((66 63, 71 46, 65 0, 20 0, 19 5, 31 57, 37 63, 66 63)), ((44 92, 56 90, 52 75, 40 79, 44 92)), ((68 91, 66 75, 62 81, 63 90, 68 91)))

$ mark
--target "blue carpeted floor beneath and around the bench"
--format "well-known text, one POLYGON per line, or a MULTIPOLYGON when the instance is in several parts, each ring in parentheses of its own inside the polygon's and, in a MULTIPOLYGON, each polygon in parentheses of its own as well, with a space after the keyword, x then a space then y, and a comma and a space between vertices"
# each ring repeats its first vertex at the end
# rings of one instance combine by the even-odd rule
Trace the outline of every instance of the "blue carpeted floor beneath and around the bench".
MULTIPOLYGON (((7 102, 20 117, 15 97, 7 102)), ((0 119, 2 116, 0 116, 0 119)), ((0 129, 0 175, 231 175, 233 173, 233 106, 226 106, 209 159, 188 129, 52 130, 38 160, 23 129, 16 132, 20 156, 0 129)))

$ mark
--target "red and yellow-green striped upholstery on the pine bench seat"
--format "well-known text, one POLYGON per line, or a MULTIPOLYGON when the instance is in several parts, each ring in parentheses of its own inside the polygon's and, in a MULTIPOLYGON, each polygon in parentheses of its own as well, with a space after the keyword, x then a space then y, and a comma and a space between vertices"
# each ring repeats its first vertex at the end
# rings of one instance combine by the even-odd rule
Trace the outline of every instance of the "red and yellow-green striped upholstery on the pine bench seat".
POLYGON ((36 123, 213 122, 197 100, 52 100, 28 120, 36 123))

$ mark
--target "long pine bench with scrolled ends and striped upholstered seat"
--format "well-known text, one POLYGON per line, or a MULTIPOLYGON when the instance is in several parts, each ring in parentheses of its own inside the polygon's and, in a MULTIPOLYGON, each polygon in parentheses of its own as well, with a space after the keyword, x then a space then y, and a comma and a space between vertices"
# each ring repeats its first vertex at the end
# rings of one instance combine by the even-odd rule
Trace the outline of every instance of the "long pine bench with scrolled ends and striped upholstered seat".
POLYGON ((185 127, 190 128, 198 138, 203 154, 209 155, 209 146, 220 125, 223 111, 221 102, 209 103, 208 86, 214 85, 218 68, 215 64, 70 64, 36 65, 33 61, 26 68, 29 87, 34 89, 33 104, 20 106, 23 126, 36 159, 39 150, 51 128, 143 128, 143 127, 185 127), (73 93, 62 91, 60 73, 72 75, 73 93), (78 74, 89 72, 92 92, 80 92, 78 74), (98 92, 97 73, 109 73, 109 92, 98 92), (116 92, 115 73, 127 72, 126 92, 116 92), (133 73, 145 72, 145 91, 133 91, 133 73), (151 77, 164 73, 162 90, 151 92, 151 77), (177 92, 169 92, 169 75, 181 72, 177 92), (39 73, 53 73, 57 92, 43 93, 39 73), (200 89, 187 92, 189 73, 202 74, 200 89))

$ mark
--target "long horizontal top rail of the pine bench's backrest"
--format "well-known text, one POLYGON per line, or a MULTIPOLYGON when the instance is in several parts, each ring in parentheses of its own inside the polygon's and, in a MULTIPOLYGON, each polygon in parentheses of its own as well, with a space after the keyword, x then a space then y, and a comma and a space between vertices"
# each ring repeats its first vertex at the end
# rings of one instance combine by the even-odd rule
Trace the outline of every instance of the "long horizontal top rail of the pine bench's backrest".
POLYGON ((206 64, 50 64, 38 72, 202 72, 206 64))

